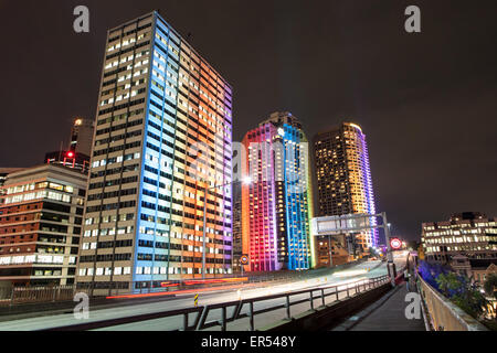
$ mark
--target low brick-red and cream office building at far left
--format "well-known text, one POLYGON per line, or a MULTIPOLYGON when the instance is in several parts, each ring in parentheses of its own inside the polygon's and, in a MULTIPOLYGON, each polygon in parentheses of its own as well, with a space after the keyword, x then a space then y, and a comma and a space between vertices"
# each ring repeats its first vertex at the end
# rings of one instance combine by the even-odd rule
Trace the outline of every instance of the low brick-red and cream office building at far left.
POLYGON ((74 284, 86 178, 54 164, 9 173, 0 189, 0 281, 74 284))

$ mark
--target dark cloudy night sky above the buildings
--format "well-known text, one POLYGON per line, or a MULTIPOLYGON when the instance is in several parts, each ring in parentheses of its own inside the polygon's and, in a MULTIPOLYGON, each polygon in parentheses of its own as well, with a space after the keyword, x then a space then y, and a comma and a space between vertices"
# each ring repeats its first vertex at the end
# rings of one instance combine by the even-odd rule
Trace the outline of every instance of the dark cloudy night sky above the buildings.
POLYGON ((355 121, 394 235, 497 216, 495 0, 0 0, 0 167, 41 163, 73 117, 95 118, 107 29, 155 9, 232 84, 234 141, 275 110, 309 138, 355 121), (422 33, 404 31, 410 4, 422 33))

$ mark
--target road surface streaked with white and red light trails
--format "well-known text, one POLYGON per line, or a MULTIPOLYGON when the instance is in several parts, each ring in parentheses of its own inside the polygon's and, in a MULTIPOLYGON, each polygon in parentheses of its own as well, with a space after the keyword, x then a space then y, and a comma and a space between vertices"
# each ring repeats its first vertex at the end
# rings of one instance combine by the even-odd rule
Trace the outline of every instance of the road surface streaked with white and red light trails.
MULTIPOLYGON (((402 266, 403 258, 395 258, 395 263, 399 266, 402 266)), ((278 284, 271 287, 263 288, 242 288, 240 291, 236 289, 232 289, 226 291, 225 289, 220 289, 210 292, 203 292, 199 296, 199 306, 207 306, 220 302, 228 301, 236 301, 240 299, 248 299, 256 298, 263 296, 272 296, 277 293, 292 292, 303 289, 310 288, 320 288, 332 285, 341 285, 339 289, 345 289, 346 286, 352 281, 358 280, 367 280, 369 278, 380 277, 387 275, 387 265, 381 261, 366 261, 359 265, 356 265, 351 268, 335 272, 332 275, 322 276, 318 278, 311 278, 307 280, 299 280, 287 284, 278 284)), ((353 291, 352 291, 353 293, 353 291)), ((341 298, 346 297, 346 293, 341 293, 341 298)), ((309 298, 308 295, 299 295, 293 296, 292 301, 309 298)), ((256 302, 254 304, 254 310, 258 310, 262 308, 268 308, 278 303, 284 302, 284 298, 266 300, 262 302, 256 302)), ((335 301, 335 297, 327 297, 326 303, 330 303, 335 301)), ((315 307, 319 307, 321 304, 321 299, 315 299, 315 307)), ((191 308, 193 307, 193 298, 191 293, 188 295, 178 295, 173 299, 167 298, 167 300, 160 300, 155 302, 140 302, 137 300, 136 304, 126 306, 126 307, 117 307, 117 308, 107 308, 107 309, 94 309, 89 308, 89 318, 77 320, 74 318, 72 312, 64 314, 55 314, 49 317, 38 317, 38 318, 29 318, 29 319, 20 319, 20 320, 11 320, 6 322, 0 322, 0 331, 32 331, 32 330, 44 330, 50 328, 59 328, 72 324, 80 324, 92 321, 99 321, 105 319, 114 319, 114 318, 124 318, 136 314, 151 313, 158 311, 167 311, 167 310, 176 310, 182 308, 191 308)), ((242 310, 243 312, 247 311, 247 306, 242 310)), ((226 315, 230 317, 233 309, 229 309, 226 315)), ((300 303, 292 307, 292 314, 296 314, 299 312, 304 312, 309 310, 309 302, 300 303)), ((214 310, 209 315, 207 321, 216 320, 220 318, 221 310, 214 310)), ((193 315, 195 313, 190 314, 189 321, 193 322, 193 315)), ((267 313, 263 313, 255 317, 255 327, 260 329, 262 327, 268 325, 284 319, 286 315, 285 309, 279 309, 276 311, 271 311, 267 313)), ((128 323, 121 325, 115 325, 110 328, 99 329, 102 331, 171 331, 178 330, 182 325, 182 315, 178 317, 169 317, 162 319, 147 320, 136 323, 128 323)), ((228 330, 236 330, 236 331, 245 331, 248 330, 248 319, 240 319, 234 322, 230 322, 228 324, 228 330)), ((214 327, 209 330, 220 330, 220 327, 214 327)))

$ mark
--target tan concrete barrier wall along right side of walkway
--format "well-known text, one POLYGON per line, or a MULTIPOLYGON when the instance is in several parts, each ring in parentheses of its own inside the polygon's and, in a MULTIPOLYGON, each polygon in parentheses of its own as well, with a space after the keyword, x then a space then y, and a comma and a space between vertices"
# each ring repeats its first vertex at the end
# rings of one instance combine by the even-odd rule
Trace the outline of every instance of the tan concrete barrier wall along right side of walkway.
POLYGON ((419 277, 419 289, 435 331, 489 331, 419 277))

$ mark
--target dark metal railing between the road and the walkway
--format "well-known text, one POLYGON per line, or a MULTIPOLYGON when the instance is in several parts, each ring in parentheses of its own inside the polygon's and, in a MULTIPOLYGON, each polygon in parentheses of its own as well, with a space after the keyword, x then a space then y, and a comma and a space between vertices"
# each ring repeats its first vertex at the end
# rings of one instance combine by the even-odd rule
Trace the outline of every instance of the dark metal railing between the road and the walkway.
POLYGON ((107 319, 107 320, 99 320, 99 321, 93 321, 93 322, 86 322, 86 323, 80 323, 80 324, 73 324, 73 325, 66 325, 66 327, 59 327, 59 328, 52 328, 46 329, 42 331, 85 331, 85 330, 95 330, 95 329, 103 329, 103 328, 109 328, 115 325, 121 325, 127 323, 136 323, 147 320, 154 320, 154 319, 165 319, 165 318, 172 318, 172 317, 182 317, 182 325, 179 327, 177 330, 173 331, 199 331, 209 329, 212 327, 221 327, 221 331, 226 331, 228 323, 233 322, 239 319, 248 318, 248 325, 251 331, 255 331, 255 317, 262 313, 285 309, 285 315, 286 319, 292 320, 292 307, 297 306, 300 303, 308 302, 310 310, 315 310, 315 300, 321 301, 321 307, 326 306, 326 298, 327 297, 335 297, 335 300, 339 300, 339 295, 346 292, 347 298, 350 298, 352 295, 357 295, 363 291, 368 291, 371 289, 374 289, 379 286, 382 286, 384 284, 390 282, 390 278, 388 276, 380 276, 371 279, 363 279, 358 280, 350 284, 338 284, 332 286, 326 286, 320 288, 313 288, 313 289, 303 289, 297 291, 290 291, 279 295, 272 295, 272 296, 265 296, 265 297, 256 297, 256 298, 250 298, 250 299, 242 299, 242 300, 235 300, 230 302, 222 302, 222 303, 215 303, 215 304, 209 304, 209 306, 200 306, 200 307, 192 307, 192 308, 184 308, 184 309, 176 309, 176 310, 167 310, 161 312, 152 312, 152 313, 145 313, 145 314, 137 314, 137 315, 130 315, 125 318, 116 318, 116 319, 107 319), (345 288, 343 288, 345 287, 345 288), (341 288, 341 289, 340 289, 341 288), (317 296, 316 296, 317 293, 317 296), (296 296, 305 296, 307 298, 304 299, 297 299, 292 301, 292 298, 295 298, 296 296), (255 303, 261 303, 264 301, 275 300, 275 299, 284 299, 283 303, 273 304, 267 308, 254 309, 255 303), (232 314, 229 317, 228 309, 232 308, 232 314), (242 312, 243 309, 246 312, 242 312), (214 310, 221 310, 221 318, 216 318, 214 320, 209 319, 209 314, 212 313, 214 310), (190 323, 190 314, 195 313, 193 322, 190 323))

